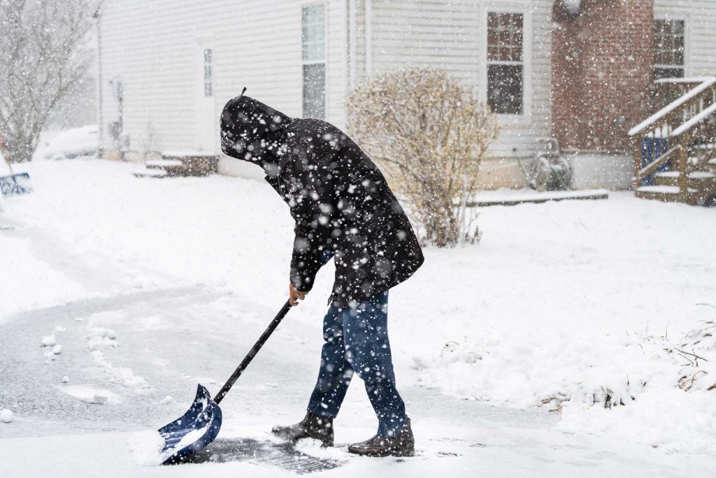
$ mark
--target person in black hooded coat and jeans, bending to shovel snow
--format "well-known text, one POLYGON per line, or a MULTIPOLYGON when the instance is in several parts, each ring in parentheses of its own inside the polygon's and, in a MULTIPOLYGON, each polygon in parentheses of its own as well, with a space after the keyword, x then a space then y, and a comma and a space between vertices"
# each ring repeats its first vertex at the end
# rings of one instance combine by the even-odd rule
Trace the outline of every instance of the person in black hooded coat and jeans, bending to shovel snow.
POLYGON ((415 443, 395 386, 387 335, 388 290, 423 262, 405 211, 373 161, 323 120, 296 119, 253 98, 229 101, 221 114, 221 149, 256 163, 289 204, 296 221, 289 302, 297 305, 333 257, 336 276, 324 318, 318 381, 306 416, 274 434, 334 441, 337 416, 353 373, 365 383, 377 434, 348 451, 412 456, 415 443))

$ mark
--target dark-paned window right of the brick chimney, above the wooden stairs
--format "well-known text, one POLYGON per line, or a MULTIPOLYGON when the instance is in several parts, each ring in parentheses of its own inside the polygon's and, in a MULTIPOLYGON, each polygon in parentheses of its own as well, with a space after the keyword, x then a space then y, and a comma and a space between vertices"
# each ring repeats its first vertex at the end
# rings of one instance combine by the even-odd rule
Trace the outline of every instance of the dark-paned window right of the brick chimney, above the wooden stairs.
POLYGON ((654 80, 684 77, 684 21, 654 20, 654 80))

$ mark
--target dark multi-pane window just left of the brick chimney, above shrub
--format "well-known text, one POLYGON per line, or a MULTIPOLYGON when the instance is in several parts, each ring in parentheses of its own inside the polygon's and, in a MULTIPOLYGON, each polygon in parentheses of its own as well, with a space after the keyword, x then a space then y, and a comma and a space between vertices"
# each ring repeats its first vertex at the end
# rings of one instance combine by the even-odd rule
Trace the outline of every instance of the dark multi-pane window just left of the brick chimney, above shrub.
POLYGON ((488 105, 495 113, 523 113, 523 15, 488 12, 488 105))

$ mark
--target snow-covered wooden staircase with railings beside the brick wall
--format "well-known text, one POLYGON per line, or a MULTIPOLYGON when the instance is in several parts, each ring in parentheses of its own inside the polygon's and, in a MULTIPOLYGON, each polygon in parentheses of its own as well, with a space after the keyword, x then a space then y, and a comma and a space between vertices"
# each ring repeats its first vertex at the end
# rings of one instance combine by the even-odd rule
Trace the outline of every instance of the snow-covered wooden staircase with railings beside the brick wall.
POLYGON ((716 206, 716 77, 655 83, 657 97, 672 101, 629 131, 635 194, 716 206))

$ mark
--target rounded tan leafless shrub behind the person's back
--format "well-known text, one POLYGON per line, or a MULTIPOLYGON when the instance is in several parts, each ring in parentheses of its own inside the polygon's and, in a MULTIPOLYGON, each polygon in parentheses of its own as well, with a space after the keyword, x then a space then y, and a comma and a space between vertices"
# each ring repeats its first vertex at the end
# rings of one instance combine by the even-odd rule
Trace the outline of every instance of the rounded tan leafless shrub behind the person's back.
POLYGON ((410 68, 364 82, 347 109, 349 130, 410 201, 425 242, 478 239, 468 200, 499 132, 489 107, 444 71, 410 68))

